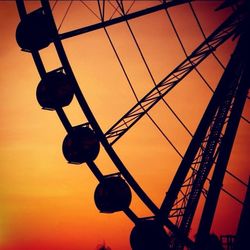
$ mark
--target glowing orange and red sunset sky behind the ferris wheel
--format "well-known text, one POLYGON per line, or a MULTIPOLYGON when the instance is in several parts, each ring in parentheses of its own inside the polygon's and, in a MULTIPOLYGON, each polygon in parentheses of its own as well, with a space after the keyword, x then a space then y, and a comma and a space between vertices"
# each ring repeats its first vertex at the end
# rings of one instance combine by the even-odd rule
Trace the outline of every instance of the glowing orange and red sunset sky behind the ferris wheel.
MULTIPOLYGON (((97 13, 95 1, 84 1, 97 13)), ((194 9, 206 35, 209 35, 231 9, 214 12, 216 1, 197 1, 194 9)), ((27 1, 29 11, 37 1, 27 1)), ((54 4, 54 2, 52 2, 54 4)), ((126 3, 130 6, 131 2, 126 3)), ((159 4, 137 0, 131 12, 159 4)), ((59 1, 54 17, 59 26, 69 2, 59 1)), ((107 15, 113 7, 107 5, 107 15)), ((202 41, 202 34, 187 4, 169 9, 176 28, 191 53, 202 41)), ((115 15, 118 15, 117 13, 115 15)), ((53 111, 42 110, 36 100, 39 74, 30 53, 20 50, 15 40, 20 21, 15 1, 0 1, 0 249, 1 250, 94 250, 106 243, 112 250, 128 250, 133 223, 122 212, 103 214, 94 203, 98 181, 87 165, 70 165, 62 154, 66 135, 53 111)), ((73 2, 60 33, 98 22, 80 1, 73 2)), ((163 79, 185 58, 164 11, 129 21, 156 82, 163 79)), ((119 56, 138 97, 153 88, 140 54, 125 23, 108 28, 119 56)), ((136 100, 103 30, 63 41, 67 56, 97 121, 106 132, 136 100)), ((224 65, 235 46, 229 40, 216 51, 224 65)), ((60 66, 54 46, 41 51, 47 71, 60 66)), ((223 72, 210 56, 198 68, 215 89, 223 72)), ((192 133, 212 93, 197 73, 192 72, 167 96, 170 106, 192 133)), ((86 123, 77 101, 65 108, 72 125, 86 123)), ((184 155, 190 135, 162 102, 150 115, 184 155)), ((249 100, 243 116, 250 119, 249 100)), ((249 124, 241 119, 228 169, 245 183, 250 175, 248 163, 249 124)), ((142 118, 114 149, 157 206, 180 164, 180 156, 147 117, 142 118)), ((117 172, 104 150, 96 160, 103 172, 117 172)), ((226 175, 224 188, 243 200, 246 188, 226 175)), ((139 217, 151 213, 133 194, 131 209, 139 217)), ((234 234, 241 205, 221 193, 212 232, 234 234)), ((197 219, 191 228, 194 237, 197 219)))

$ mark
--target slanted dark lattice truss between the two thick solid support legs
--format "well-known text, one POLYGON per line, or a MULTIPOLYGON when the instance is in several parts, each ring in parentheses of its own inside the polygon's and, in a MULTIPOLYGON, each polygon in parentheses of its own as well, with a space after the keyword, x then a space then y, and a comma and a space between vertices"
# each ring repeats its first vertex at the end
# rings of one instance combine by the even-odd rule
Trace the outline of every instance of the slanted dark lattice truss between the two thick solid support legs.
MULTIPOLYGON (((207 125, 200 125, 197 129, 197 131, 202 130, 207 132, 199 136, 198 140, 200 146, 190 163, 189 171, 191 173, 187 173, 187 177, 183 181, 182 187, 179 190, 180 194, 178 195, 178 199, 171 206, 171 211, 169 211, 169 216, 177 217, 179 227, 186 234, 189 232, 204 183, 212 166, 214 166, 217 161, 221 149, 221 142, 224 138, 223 133, 228 125, 228 120, 232 115, 232 108, 235 105, 235 97, 242 74, 242 65, 239 63, 239 58, 234 60, 234 65, 231 67, 234 71, 227 70, 220 83, 224 83, 225 85, 223 93, 221 93, 221 90, 219 89, 220 87, 218 87, 216 91, 219 92, 215 92, 214 95, 217 95, 220 98, 220 102, 217 101, 218 104, 215 106, 213 104, 215 99, 211 100, 202 119, 204 124, 206 123, 207 125), (214 107, 211 108, 212 106, 214 107), (208 114, 209 112, 210 114, 208 114)), ((186 158, 184 157, 181 166, 188 164, 186 160, 187 158, 190 159, 190 155, 186 158)), ((174 188, 176 188, 176 186, 174 188)))

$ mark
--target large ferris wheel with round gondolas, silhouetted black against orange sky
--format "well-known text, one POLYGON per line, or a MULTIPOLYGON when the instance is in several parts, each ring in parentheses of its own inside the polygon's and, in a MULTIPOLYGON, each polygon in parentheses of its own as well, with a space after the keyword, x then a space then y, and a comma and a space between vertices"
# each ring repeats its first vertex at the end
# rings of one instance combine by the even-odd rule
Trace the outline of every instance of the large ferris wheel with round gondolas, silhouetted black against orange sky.
MULTIPOLYGON (((240 120, 249 123, 249 120, 242 115, 245 102, 248 99, 249 88, 250 62, 248 55, 250 53, 249 46, 247 46, 250 37, 247 29, 249 27, 249 3, 247 1, 213 3, 212 7, 210 6, 213 11, 215 7, 217 7, 218 13, 228 8, 230 11, 223 16, 220 24, 216 23, 216 26, 211 28, 209 34, 204 31, 196 12, 196 7, 204 4, 200 1, 97 0, 60 2, 41 0, 31 10, 28 10, 28 3, 23 0, 16 0, 16 3, 21 18, 16 31, 17 43, 24 52, 32 55, 41 78, 36 92, 37 100, 43 109, 53 110, 57 113, 66 130, 62 143, 65 159, 70 164, 86 163, 99 181, 94 193, 97 208, 103 213, 123 211, 134 222, 135 226, 130 237, 130 244, 134 250, 204 249, 203 243, 206 242, 210 233, 220 191, 226 192, 231 198, 237 200, 237 197, 222 188, 222 183, 226 173, 240 181, 227 170, 227 164, 240 120), (63 16, 58 17, 57 10, 60 9, 60 5, 64 11, 63 16), (92 17, 89 18, 90 24, 61 32, 68 15, 73 12, 73 5, 77 5, 76 9, 84 9, 84 13, 88 12, 88 15, 92 17), (175 9, 178 11, 188 9, 188 13, 192 16, 196 29, 200 33, 200 42, 189 47, 183 42, 177 28, 178 25, 175 24, 172 17, 175 12, 172 13, 171 10, 175 9), (161 13, 161 16, 155 13, 161 13), (153 64, 152 61, 151 64, 149 63, 137 37, 139 35, 136 35, 139 33, 134 31, 133 24, 143 23, 143 17, 150 19, 154 17, 157 19, 157 25, 161 28, 162 24, 159 20, 162 22, 163 15, 163 22, 167 22, 175 35, 175 43, 180 49, 178 54, 181 56, 177 56, 176 61, 173 60, 172 68, 166 67, 166 71, 158 73, 155 77, 153 71, 156 71, 158 65, 153 64), (126 32, 137 51, 137 56, 148 75, 147 79, 152 83, 151 87, 147 86, 141 92, 132 83, 134 72, 133 74, 129 73, 128 62, 123 61, 126 55, 120 54, 114 42, 111 29, 117 25, 126 27, 126 32), (109 49, 113 52, 113 59, 116 60, 120 72, 127 82, 129 95, 134 98, 134 101, 129 99, 128 103, 133 103, 133 105, 125 110, 117 121, 113 122, 112 114, 109 115, 112 122, 108 123, 111 123, 111 126, 105 131, 103 127, 106 127, 107 123, 99 121, 94 115, 95 110, 91 108, 94 105, 89 104, 85 94, 83 94, 85 90, 78 83, 71 66, 70 56, 66 53, 65 44, 63 44, 64 41, 66 43, 67 40, 98 30, 101 30, 106 37, 109 49), (217 56, 216 50, 228 41, 231 41, 235 48, 231 58, 228 56, 225 65, 217 56), (59 63, 58 67, 48 69, 44 63, 42 52, 51 44, 54 45, 54 54, 56 54, 59 63), (209 58, 213 58, 222 72, 220 78, 216 78, 214 86, 211 86, 207 77, 198 67, 209 58), (181 83, 189 78, 193 72, 211 96, 207 106, 201 107, 202 115, 200 118, 196 118, 200 121, 193 129, 194 132, 178 115, 175 107, 166 100, 166 97, 171 95, 175 89, 180 88, 181 83), (76 125, 72 125, 73 123, 66 112, 73 100, 77 102, 83 118, 83 122, 76 125), (157 109, 157 107, 158 116, 161 116, 162 109, 168 110, 186 135, 190 137, 184 154, 166 134, 159 119, 154 117, 152 110, 157 109), (121 138, 129 135, 137 124, 142 123, 145 120, 144 117, 157 130, 161 140, 166 141, 171 147, 176 154, 175 157, 180 159, 179 167, 170 186, 166 187, 168 190, 166 195, 162 197, 160 206, 156 205, 150 195, 139 185, 130 168, 126 167, 125 160, 119 156, 119 150, 116 150, 115 146, 121 138), (109 173, 101 171, 98 161, 100 154, 105 154, 109 158, 116 171, 109 173), (148 216, 140 217, 131 208, 130 204, 134 195, 148 209, 148 216), (205 199, 205 201, 203 200, 204 208, 200 215, 197 238, 194 242, 189 233, 201 197, 205 199)), ((62 13, 61 9, 60 13, 62 13)), ((143 27, 147 28, 145 25, 143 27)), ((122 35, 122 32, 116 31, 116 36, 122 35)), ((124 45, 126 45, 126 41, 123 41, 124 45)), ((171 47, 171 44, 169 46, 171 47)), ((164 50, 162 51, 164 53, 164 50)), ((160 55, 160 52, 158 53, 160 55)), ((161 59, 163 57, 164 55, 161 59)), ((128 58, 131 61, 134 60, 129 56, 128 58)), ((164 64, 165 60, 162 59, 162 61, 164 64)), ((106 63, 109 63, 108 59, 106 63)), ((134 62, 131 64, 134 66, 134 62)), ((112 75, 112 70, 107 74, 112 75)), ((114 76, 113 81, 116 81, 116 77, 114 76)), ((88 86, 86 92, 91 93, 91 91, 94 95, 94 87, 91 89, 88 86)), ((118 100, 123 98, 119 97, 121 92, 118 89, 114 91, 117 91, 118 100)), ((174 94, 172 94, 172 98, 174 98, 174 94)), ((112 103, 112 100, 106 101, 111 107, 117 107, 116 104, 112 103)), ((179 99, 178 102, 182 102, 182 99, 179 99)), ((199 105, 197 104, 197 106, 199 105)), ((114 116, 116 117, 117 114, 114 116)), ((152 167, 151 171, 157 170, 152 167)), ((245 185, 243 182, 242 184, 245 185)))

